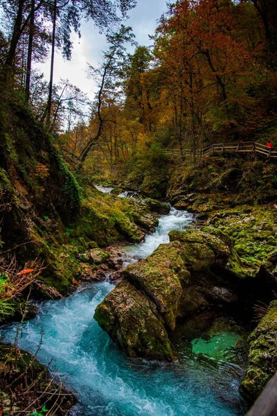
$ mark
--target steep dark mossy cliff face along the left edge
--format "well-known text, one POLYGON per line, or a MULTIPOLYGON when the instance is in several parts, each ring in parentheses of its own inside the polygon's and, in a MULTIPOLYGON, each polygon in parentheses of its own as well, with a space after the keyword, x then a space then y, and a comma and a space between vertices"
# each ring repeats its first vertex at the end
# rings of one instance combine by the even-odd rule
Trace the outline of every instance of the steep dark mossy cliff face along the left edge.
MULTIPOLYGON (((5 96, 6 90, 1 94, 5 96)), ((62 255, 66 229, 78 216, 81 189, 26 103, 9 92, 0 103, 1 241, 24 265, 44 261, 44 283, 67 293, 78 274, 73 252, 62 255), (75 267, 74 267, 75 266, 75 267), (75 270, 74 270, 75 269, 75 270)))

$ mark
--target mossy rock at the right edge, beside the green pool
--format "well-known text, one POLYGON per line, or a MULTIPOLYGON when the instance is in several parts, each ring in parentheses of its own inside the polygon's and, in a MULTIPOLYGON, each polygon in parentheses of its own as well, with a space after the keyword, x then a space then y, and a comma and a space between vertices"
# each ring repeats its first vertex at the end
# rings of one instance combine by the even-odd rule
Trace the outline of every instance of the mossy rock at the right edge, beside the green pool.
POLYGON ((267 315, 249 336, 249 367, 240 392, 255 401, 271 376, 277 372, 277 301, 271 302, 267 315))

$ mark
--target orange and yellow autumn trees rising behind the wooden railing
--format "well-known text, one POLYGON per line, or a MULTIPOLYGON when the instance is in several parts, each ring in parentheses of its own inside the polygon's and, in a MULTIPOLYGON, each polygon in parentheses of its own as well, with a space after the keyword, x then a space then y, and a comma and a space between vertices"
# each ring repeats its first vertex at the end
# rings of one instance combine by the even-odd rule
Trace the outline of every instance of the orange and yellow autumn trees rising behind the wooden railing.
MULTIPOLYGON (((269 3, 263 1, 263 7, 269 3)), ((101 177, 109 171, 112 176, 118 167, 123 175, 143 172, 151 151, 157 155, 168 148, 182 152, 269 137, 274 142, 275 38, 269 48, 265 27, 274 34, 274 19, 271 12, 265 22, 259 5, 230 0, 169 5, 152 46, 138 46, 125 60, 116 87, 103 91, 104 122, 84 164, 87 173, 101 177)), ((98 124, 92 112, 89 125, 67 132, 73 159, 80 157, 98 124)))

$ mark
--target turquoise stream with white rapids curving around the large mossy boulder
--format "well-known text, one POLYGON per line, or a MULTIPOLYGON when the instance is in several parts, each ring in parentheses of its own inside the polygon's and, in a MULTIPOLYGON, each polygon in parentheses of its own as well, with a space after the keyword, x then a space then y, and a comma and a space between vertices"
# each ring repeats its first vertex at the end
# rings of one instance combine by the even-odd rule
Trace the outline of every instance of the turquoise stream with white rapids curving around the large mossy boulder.
MULTIPOLYGON (((157 231, 141 245, 125 248, 142 258, 171 229, 184 229, 193 217, 172 209, 161 216, 157 231)), ((173 363, 127 358, 93 319, 96 306, 114 288, 105 281, 87 284, 66 300, 38 304, 28 322, 0 329, 0 339, 35 354, 78 394, 72 416, 242 416, 247 408, 238 393, 243 365, 232 348, 240 338, 220 333, 209 340, 186 340, 173 363), (18 329, 19 328, 19 329, 18 329)))

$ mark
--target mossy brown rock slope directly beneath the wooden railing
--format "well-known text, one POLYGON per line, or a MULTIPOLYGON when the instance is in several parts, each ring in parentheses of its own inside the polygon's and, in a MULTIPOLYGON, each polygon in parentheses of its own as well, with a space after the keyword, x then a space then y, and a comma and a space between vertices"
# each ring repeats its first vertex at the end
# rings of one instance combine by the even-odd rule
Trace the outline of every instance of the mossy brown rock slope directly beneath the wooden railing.
MULTIPOLYGON (((233 156, 233 155, 232 155, 233 156)), ((168 200, 176 207, 208 216, 239 205, 258 205, 277 197, 276 163, 258 157, 206 156, 172 164, 168 200)))

